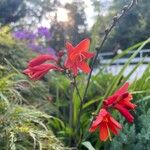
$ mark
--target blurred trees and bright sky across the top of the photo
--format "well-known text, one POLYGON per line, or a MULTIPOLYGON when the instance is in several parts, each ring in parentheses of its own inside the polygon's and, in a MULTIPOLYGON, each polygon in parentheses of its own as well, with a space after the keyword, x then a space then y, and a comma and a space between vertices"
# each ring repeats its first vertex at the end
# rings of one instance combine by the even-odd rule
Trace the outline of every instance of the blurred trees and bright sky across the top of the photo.
MULTIPOLYGON (((130 1, 1 0, 0 26, 9 25, 11 31, 27 30, 33 33, 38 27, 46 27, 51 34, 50 45, 61 50, 66 40, 76 44, 81 39, 90 37, 97 21, 101 39, 112 16, 120 12, 128 2, 130 1)), ((105 44, 105 52, 125 49, 148 38, 149 6, 149 0, 138 0, 136 8, 120 21, 111 34, 105 44)))

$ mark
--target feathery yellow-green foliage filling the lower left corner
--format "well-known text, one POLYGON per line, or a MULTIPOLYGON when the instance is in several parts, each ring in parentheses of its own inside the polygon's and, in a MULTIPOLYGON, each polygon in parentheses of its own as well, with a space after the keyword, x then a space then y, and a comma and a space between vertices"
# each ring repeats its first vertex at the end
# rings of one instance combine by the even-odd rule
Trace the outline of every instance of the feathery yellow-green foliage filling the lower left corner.
POLYGON ((29 106, 17 91, 17 74, 1 71, 0 148, 1 150, 64 150, 48 124, 54 117, 29 106), (3 73, 2 73, 3 72, 3 73), (5 74, 5 77, 3 77, 5 74))

